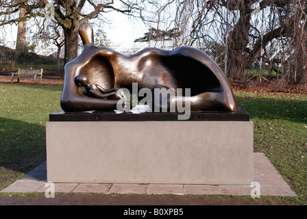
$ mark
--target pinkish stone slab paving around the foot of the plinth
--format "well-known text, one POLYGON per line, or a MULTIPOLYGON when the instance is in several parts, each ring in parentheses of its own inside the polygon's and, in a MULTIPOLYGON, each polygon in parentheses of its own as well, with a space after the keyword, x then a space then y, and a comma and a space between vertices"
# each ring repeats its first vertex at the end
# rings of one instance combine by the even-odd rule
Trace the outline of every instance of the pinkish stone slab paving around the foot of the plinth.
POLYGON ((264 153, 254 153, 251 185, 51 183, 47 181, 47 166, 43 162, 1 192, 46 192, 51 185, 54 192, 297 196, 264 153))

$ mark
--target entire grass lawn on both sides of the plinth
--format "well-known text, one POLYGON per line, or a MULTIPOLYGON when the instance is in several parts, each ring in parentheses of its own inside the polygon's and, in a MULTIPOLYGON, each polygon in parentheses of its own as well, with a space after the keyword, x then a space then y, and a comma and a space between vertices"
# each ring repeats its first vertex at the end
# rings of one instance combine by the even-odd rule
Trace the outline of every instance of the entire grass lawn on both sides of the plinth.
MULTIPOLYGON (((45 123, 60 110, 61 94, 56 86, 0 85, 0 190, 45 160, 45 123)), ((261 198, 307 205, 307 96, 240 93, 236 99, 254 121, 254 151, 265 153, 298 195, 261 198)))

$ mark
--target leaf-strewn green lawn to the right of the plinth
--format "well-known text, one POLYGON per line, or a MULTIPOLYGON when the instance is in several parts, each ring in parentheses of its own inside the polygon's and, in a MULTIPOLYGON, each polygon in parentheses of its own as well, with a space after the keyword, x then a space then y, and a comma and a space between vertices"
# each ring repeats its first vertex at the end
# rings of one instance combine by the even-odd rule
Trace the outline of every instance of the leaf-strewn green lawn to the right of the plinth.
POLYGON ((236 99, 254 122, 254 151, 265 153, 307 204, 307 96, 237 94, 236 99))

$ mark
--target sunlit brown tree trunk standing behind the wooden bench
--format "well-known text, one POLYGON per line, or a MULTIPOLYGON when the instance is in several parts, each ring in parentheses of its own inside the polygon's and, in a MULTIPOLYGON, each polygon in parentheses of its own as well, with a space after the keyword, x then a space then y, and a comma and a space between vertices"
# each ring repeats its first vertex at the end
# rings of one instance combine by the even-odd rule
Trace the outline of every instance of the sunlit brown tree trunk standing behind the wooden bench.
MULTIPOLYGON (((19 18, 23 18, 26 12, 25 8, 21 8, 19 18)), ((20 21, 18 25, 14 58, 16 59, 20 55, 27 55, 27 21, 20 21)))

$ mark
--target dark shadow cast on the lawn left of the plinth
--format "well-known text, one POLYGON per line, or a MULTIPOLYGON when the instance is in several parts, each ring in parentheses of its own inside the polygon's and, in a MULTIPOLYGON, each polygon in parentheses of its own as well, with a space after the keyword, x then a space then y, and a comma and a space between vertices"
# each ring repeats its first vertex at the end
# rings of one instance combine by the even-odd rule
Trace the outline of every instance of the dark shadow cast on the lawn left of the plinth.
POLYGON ((0 118, 0 188, 46 159, 45 126, 0 118))

